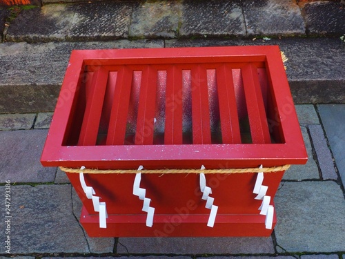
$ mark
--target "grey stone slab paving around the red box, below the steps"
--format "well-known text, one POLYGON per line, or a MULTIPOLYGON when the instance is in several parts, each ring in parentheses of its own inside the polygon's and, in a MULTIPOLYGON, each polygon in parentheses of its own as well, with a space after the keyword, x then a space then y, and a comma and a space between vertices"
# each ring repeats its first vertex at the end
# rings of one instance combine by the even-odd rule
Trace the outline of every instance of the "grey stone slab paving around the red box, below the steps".
MULTIPOLYGON (((52 113, 0 115, 0 193, 11 186, 11 253, 16 256, 345 256, 344 104, 296 105, 309 161, 292 166, 275 198, 270 238, 89 238, 66 175, 39 157, 52 113), (77 240, 77 242, 72 242, 77 240)), ((5 207, 1 207, 4 218, 5 207)), ((0 238, 5 240, 4 227, 0 238)), ((0 254, 6 255, 1 246, 0 254)), ((311 256, 311 257, 310 257, 311 256)))

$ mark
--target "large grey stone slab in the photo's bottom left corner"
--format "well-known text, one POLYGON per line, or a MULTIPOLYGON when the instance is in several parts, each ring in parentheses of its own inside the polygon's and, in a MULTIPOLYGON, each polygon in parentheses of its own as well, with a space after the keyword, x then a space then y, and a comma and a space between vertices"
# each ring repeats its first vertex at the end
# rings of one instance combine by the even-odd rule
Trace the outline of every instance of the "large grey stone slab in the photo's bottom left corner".
MULTIPOLYGON (((5 186, 0 190, 4 193, 5 186)), ((11 186, 11 215, 14 254, 90 252, 72 214, 70 185, 11 186)), ((1 229, 1 240, 3 234, 1 229)), ((4 246, 0 249, 3 253, 4 246)))

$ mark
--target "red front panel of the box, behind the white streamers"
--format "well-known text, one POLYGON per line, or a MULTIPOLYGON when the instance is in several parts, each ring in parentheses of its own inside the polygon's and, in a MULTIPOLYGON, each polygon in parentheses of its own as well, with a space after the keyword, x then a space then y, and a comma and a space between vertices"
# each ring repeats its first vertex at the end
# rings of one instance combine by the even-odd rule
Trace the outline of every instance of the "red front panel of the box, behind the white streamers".
MULTIPOLYGON (((221 166, 226 166, 225 164, 221 166)), ((267 195, 275 196, 284 172, 267 173, 264 185, 269 186, 267 195)), ((261 200, 255 200, 253 193, 256 173, 234 173, 230 175, 206 175, 207 185, 212 188, 215 205, 219 206, 219 215, 257 215, 261 200)), ((92 200, 86 198, 77 173, 68 173, 70 182, 75 187, 79 198, 88 213, 94 213, 92 200)), ((132 195, 135 174, 86 174, 86 184, 95 189, 103 202, 107 204, 108 214, 145 214, 141 211, 142 201, 132 195)), ((141 175, 141 188, 146 189, 146 196, 158 214, 178 213, 177 209, 186 204, 195 204, 193 214, 209 214, 205 201, 201 200, 199 175, 190 174, 144 174, 141 175), (177 208, 177 209, 176 209, 177 208)), ((192 212, 191 212, 192 213, 192 212)))

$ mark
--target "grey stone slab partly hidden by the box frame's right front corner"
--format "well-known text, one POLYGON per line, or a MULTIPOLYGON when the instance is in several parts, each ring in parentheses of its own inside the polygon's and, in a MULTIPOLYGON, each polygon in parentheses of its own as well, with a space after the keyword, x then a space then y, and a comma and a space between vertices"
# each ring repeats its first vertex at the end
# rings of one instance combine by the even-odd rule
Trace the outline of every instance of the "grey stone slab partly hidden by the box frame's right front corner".
POLYGON ((305 127, 301 127, 306 152, 308 154, 308 162, 306 164, 291 165, 284 173, 284 180, 306 180, 306 179, 319 179, 319 169, 313 158, 313 148, 308 131, 305 127))

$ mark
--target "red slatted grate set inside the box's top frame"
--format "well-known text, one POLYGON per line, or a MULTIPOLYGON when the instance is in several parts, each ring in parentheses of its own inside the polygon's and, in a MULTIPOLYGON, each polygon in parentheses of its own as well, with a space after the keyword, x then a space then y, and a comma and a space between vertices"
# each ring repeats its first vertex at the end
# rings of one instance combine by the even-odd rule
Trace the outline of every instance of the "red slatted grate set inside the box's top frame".
POLYGON ((86 68, 79 146, 280 142, 260 62, 86 68))

